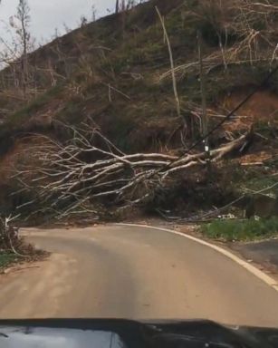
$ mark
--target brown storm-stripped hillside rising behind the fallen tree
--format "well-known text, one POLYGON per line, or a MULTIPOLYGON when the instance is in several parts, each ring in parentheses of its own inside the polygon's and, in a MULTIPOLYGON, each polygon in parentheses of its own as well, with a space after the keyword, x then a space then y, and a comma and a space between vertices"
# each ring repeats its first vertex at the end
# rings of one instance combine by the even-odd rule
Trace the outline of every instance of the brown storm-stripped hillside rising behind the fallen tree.
MULTIPOLYGON (((25 166, 26 156, 37 149, 38 140, 31 133, 66 143, 72 133, 65 124, 90 123, 126 154, 179 156, 185 152, 200 138, 197 32, 203 38, 209 129, 260 86, 277 58, 274 1, 268 5, 252 0, 223 3, 152 0, 57 38, 29 56, 27 100, 20 86, 14 87, 16 66, 1 72, 1 209, 14 212, 32 197, 30 191, 25 196, 18 181, 11 179, 11 170, 18 171, 23 162, 25 166), (165 18, 171 43, 181 117, 156 6, 165 18), (18 189, 20 193, 11 197, 18 189)), ((278 145, 277 88, 275 74, 210 137, 215 149, 252 128, 253 139, 240 156, 236 151, 229 160, 213 165, 210 175, 206 169, 182 174, 167 193, 158 189, 144 209, 197 215, 225 206, 243 193, 250 196, 272 187, 278 145)), ((44 146, 45 151, 50 149, 47 143, 44 146)), ((194 153, 201 150, 198 146, 194 153)))

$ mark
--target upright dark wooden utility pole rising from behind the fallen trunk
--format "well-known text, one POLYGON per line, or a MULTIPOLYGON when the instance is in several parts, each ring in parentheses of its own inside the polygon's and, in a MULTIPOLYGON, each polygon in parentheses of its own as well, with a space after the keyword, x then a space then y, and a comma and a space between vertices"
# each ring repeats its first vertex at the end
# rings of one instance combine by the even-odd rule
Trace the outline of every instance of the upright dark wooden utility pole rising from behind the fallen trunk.
POLYGON ((209 159, 209 141, 208 141, 208 127, 207 127, 207 112, 206 112, 206 75, 204 73, 204 61, 203 61, 203 40, 202 34, 200 32, 197 33, 197 41, 198 41, 198 52, 199 52, 199 63, 200 63, 200 84, 201 84, 201 94, 202 94, 202 126, 201 133, 202 136, 205 137, 204 145, 205 151, 207 153, 207 159, 209 159))

